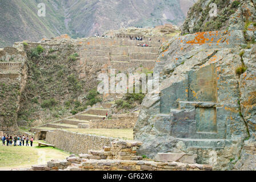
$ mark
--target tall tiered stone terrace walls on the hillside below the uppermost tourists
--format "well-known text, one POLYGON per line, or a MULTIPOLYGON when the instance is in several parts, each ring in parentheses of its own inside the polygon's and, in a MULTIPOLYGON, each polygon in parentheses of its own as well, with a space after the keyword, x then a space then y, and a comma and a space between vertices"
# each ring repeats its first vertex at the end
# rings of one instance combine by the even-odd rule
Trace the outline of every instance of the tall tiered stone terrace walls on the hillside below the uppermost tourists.
POLYGON ((109 38, 87 38, 78 40, 81 44, 81 64, 94 64, 95 62, 117 69, 127 71, 127 68, 153 69, 158 56, 161 42, 137 41, 109 38), (148 44, 150 47, 139 47, 138 44, 148 44))

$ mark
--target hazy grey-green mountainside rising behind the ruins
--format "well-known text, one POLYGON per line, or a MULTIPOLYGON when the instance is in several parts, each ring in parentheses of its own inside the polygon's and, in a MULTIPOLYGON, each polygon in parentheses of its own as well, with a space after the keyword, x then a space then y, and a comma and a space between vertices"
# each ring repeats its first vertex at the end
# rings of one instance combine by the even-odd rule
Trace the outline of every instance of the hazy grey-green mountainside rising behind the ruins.
POLYGON ((43 0, 41 3, 46 5, 45 17, 37 15, 38 2, 34 0, 0 2, 0 47, 61 34, 81 38, 122 27, 181 25, 194 1, 43 0))

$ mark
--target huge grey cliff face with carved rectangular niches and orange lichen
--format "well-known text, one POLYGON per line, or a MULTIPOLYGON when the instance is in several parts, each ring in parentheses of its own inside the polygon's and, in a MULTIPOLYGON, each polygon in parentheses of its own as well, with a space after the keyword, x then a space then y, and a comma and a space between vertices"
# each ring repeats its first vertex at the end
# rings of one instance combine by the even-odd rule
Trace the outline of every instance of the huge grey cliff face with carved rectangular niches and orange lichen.
MULTIPOLYGON (((202 18, 209 22, 207 15, 193 9, 211 2, 233 5, 199 1, 183 27, 202 18)), ((135 139, 143 142, 139 154, 154 158, 157 152, 193 153, 197 163, 214 169, 248 169, 255 160, 254 6, 253 1, 239 1, 227 16, 233 22, 218 28, 224 30, 210 28, 162 45, 154 68, 160 73, 159 94, 146 95, 134 127, 135 139), (234 15, 241 20, 232 19, 234 15)), ((201 30, 194 27, 183 32, 201 30)))

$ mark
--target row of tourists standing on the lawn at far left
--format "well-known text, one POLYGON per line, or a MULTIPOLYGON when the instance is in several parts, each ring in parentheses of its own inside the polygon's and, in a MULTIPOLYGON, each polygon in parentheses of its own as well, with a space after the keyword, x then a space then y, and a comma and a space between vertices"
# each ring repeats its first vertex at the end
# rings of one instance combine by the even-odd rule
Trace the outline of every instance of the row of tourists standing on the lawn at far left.
POLYGON ((29 136, 25 137, 24 135, 15 135, 15 137, 9 137, 9 135, 7 135, 5 137, 5 135, 3 137, 1 137, 1 140, 2 140, 2 143, 3 143, 3 146, 24 146, 25 144, 25 141, 26 141, 26 146, 29 146, 29 141, 30 141, 30 146, 32 147, 33 146, 33 137, 31 137, 29 139, 29 136))

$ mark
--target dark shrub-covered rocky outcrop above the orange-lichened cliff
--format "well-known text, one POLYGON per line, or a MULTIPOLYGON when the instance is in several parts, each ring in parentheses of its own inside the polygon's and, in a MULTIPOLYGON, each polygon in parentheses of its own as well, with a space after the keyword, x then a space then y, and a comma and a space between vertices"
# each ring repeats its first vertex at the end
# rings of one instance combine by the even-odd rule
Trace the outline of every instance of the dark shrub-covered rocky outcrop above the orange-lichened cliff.
POLYGON ((182 26, 182 34, 198 31, 243 30, 255 20, 255 5, 252 0, 200 0, 190 8, 182 26), (215 3, 215 5, 213 5, 215 3), (216 15, 214 14, 214 10, 216 15))

